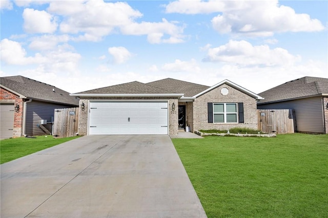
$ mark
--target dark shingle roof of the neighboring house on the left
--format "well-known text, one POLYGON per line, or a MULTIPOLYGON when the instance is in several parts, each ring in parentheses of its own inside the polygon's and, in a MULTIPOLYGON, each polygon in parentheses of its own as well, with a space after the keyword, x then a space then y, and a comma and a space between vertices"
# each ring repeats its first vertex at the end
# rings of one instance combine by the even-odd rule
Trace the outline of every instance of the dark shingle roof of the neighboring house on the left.
POLYGON ((27 98, 69 105, 78 105, 79 101, 76 97, 70 96, 64 90, 24 76, 1 77, 0 84, 4 88, 9 89, 9 91, 13 91, 27 98))

